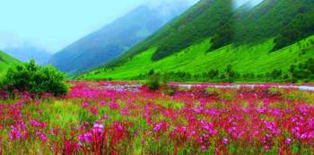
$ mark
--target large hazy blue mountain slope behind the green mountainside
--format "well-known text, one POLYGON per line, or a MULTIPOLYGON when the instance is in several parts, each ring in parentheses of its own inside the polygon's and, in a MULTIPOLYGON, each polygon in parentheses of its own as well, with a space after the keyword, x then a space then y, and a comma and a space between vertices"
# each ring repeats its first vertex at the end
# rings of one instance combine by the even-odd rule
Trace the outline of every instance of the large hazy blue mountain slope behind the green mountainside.
POLYGON ((50 63, 70 74, 103 65, 184 12, 189 5, 186 2, 141 5, 101 30, 65 47, 51 58, 50 63))

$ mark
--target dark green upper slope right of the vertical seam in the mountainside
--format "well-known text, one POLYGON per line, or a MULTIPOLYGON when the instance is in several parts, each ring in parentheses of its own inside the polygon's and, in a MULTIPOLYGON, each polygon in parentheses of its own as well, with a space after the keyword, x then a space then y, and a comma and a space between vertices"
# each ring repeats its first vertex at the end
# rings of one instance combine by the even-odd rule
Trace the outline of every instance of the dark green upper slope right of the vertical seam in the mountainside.
POLYGON ((311 17, 314 17, 312 0, 264 0, 237 22, 235 42, 262 42, 276 37, 275 49, 280 49, 313 34, 314 21, 311 17), (300 21, 304 25, 297 23, 300 21), (303 27, 299 27, 301 25, 303 27), (294 28, 296 26, 299 28, 294 28), (281 37, 287 37, 285 33, 289 27, 298 31, 293 34, 295 38, 286 44, 277 45, 282 40, 281 37))

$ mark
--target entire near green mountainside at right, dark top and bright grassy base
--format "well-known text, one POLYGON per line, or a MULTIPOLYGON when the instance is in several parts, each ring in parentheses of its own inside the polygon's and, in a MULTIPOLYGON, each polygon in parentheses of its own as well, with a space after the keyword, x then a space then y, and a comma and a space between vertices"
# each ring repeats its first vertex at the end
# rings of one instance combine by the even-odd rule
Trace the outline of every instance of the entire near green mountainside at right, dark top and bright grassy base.
POLYGON ((264 0, 239 8, 231 0, 201 0, 108 65, 82 79, 136 79, 159 73, 265 74, 314 57, 314 1, 264 0))

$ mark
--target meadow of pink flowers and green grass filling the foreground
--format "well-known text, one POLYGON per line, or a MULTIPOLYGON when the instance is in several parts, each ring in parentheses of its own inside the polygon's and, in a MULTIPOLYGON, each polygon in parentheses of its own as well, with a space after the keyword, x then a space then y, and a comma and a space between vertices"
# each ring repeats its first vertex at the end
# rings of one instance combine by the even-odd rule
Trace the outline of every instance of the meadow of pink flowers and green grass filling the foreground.
POLYGON ((311 91, 69 83, 58 98, 2 93, 0 154, 314 154, 311 91))

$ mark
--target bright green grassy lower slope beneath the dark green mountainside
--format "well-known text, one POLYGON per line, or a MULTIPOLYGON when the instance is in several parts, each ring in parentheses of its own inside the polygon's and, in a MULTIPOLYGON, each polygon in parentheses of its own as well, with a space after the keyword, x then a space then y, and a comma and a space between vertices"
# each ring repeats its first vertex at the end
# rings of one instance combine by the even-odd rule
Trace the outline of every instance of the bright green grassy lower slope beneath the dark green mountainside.
POLYGON ((128 60, 124 65, 106 71, 95 70, 83 74, 81 78, 86 80, 109 78, 130 80, 140 73, 148 73, 151 69, 161 73, 205 73, 211 69, 223 72, 226 65, 232 65, 233 69, 239 73, 267 73, 274 69, 282 69, 285 72, 290 65, 297 65, 314 57, 314 45, 310 44, 310 39, 314 39, 314 36, 272 53, 269 51, 274 47, 273 39, 254 46, 234 47, 230 45, 209 53, 207 50, 210 47, 210 39, 205 39, 201 43, 156 62, 151 60, 156 50, 156 47, 153 47, 128 60), (302 50, 305 53, 301 54, 302 50))

